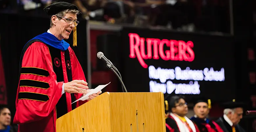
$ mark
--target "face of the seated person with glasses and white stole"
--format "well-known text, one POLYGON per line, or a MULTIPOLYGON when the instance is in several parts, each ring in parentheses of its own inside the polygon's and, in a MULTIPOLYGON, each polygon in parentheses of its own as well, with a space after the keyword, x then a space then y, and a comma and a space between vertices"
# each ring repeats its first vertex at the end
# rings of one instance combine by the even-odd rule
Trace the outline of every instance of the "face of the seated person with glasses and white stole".
POLYGON ((187 104, 184 99, 180 99, 178 103, 175 104, 175 107, 172 108, 172 112, 184 117, 188 113, 187 104))

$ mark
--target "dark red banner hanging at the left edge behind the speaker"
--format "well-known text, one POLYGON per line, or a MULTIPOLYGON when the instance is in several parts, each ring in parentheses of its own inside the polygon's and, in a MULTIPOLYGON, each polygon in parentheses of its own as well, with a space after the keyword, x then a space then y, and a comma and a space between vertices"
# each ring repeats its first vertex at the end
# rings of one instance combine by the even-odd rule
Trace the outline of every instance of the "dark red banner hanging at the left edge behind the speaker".
POLYGON ((0 104, 7 104, 7 91, 5 84, 4 64, 0 49, 0 104))

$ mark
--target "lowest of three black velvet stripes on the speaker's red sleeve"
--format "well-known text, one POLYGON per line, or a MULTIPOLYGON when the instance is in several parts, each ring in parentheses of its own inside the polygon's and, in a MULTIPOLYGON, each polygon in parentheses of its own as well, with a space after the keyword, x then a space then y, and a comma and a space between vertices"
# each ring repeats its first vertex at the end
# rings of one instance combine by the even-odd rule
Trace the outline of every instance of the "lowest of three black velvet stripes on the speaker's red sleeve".
POLYGON ((19 92, 18 99, 47 102, 49 100, 49 96, 45 94, 40 94, 40 93, 19 92))

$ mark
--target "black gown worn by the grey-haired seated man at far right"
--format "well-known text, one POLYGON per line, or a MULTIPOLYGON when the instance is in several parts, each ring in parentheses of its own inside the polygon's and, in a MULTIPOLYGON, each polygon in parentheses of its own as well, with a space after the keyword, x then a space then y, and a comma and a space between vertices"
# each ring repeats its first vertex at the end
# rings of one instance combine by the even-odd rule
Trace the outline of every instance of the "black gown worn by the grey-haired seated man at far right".
MULTIPOLYGON (((232 132, 232 127, 226 122, 223 116, 215 122, 223 129, 224 132, 232 132)), ((239 124, 237 124, 235 128, 236 132, 245 132, 245 130, 239 124)))

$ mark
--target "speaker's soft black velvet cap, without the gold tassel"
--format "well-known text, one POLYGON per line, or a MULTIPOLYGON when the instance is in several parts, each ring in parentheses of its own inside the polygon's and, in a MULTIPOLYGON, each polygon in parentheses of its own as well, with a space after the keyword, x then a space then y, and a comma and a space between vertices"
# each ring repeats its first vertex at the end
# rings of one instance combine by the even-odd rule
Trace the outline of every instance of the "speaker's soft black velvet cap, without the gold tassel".
MULTIPOLYGON (((67 2, 53 3, 49 6, 47 6, 46 8, 44 8, 44 11, 48 15, 55 15, 55 14, 59 13, 60 11, 63 11, 63 10, 66 10, 66 9, 75 9, 75 10, 79 11, 79 9, 74 4, 70 4, 70 3, 67 3, 67 2)), ((79 14, 80 13, 81 12, 79 11, 79 14)))

